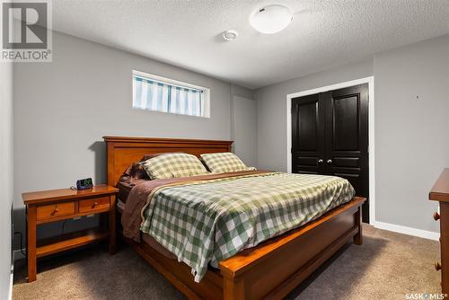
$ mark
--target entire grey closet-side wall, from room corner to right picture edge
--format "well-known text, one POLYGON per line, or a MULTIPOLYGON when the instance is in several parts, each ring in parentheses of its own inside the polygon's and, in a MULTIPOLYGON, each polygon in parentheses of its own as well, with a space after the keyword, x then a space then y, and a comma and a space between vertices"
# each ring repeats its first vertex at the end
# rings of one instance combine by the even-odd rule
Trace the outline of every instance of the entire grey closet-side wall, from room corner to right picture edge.
POLYGON ((258 165, 286 171, 286 94, 369 75, 374 75, 376 220, 437 232, 430 217, 436 204, 427 194, 449 166, 449 36, 255 91, 258 165))

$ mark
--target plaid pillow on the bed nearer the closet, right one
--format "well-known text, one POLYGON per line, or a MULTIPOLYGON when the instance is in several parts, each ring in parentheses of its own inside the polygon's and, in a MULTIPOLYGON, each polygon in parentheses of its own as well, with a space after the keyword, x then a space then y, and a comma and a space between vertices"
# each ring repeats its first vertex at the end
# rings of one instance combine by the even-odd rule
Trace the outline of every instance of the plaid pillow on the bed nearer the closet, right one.
POLYGON ((207 169, 214 173, 256 170, 254 167, 247 167, 237 155, 231 152, 201 154, 201 159, 207 169))

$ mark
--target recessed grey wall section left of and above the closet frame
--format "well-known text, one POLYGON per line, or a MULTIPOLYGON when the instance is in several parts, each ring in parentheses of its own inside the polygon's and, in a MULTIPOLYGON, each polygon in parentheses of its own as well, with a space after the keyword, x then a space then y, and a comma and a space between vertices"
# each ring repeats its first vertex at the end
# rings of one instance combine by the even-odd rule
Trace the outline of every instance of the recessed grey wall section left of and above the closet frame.
POLYGON ((373 59, 256 90, 258 166, 286 171, 286 95, 373 75, 373 59))

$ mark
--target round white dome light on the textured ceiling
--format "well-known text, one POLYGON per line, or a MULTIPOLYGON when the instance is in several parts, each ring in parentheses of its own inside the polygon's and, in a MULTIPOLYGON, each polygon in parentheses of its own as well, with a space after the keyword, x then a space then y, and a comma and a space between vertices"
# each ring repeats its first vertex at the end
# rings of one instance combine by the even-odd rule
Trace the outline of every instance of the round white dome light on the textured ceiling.
POLYGON ((292 20, 292 11, 280 4, 264 6, 250 16, 251 26, 256 31, 266 34, 282 31, 292 20))

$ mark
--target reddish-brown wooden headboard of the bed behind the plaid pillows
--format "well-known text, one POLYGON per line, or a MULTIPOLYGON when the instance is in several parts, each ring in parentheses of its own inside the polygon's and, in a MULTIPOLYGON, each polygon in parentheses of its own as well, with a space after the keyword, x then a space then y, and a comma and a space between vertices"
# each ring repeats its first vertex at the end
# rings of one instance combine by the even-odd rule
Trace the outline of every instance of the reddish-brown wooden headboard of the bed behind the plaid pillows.
POLYGON ((157 137, 103 137, 108 151, 108 184, 115 187, 131 163, 145 154, 185 152, 188 154, 230 152, 232 141, 157 137))

